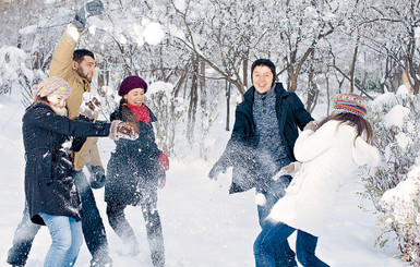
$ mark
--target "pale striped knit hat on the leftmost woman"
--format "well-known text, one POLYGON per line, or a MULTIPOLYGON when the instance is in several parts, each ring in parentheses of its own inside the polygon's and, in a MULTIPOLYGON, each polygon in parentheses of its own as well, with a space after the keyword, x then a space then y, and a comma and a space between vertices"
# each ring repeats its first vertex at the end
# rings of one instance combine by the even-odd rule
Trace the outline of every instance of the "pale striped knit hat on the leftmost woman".
POLYGON ((71 88, 64 78, 52 76, 37 85, 34 85, 34 87, 32 88, 33 99, 36 99, 38 96, 45 97, 55 94, 70 96, 71 88))

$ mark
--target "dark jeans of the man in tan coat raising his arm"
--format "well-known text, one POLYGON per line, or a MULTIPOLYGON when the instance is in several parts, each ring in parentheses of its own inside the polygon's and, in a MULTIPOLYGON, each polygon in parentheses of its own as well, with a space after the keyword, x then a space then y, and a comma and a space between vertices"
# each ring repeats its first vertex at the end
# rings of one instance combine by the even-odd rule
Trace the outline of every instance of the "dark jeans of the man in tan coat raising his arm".
MULTIPOLYGON (((82 171, 74 171, 73 177, 82 201, 82 229, 87 248, 92 254, 91 264, 92 266, 103 266, 106 263, 111 263, 112 260, 108 255, 105 227, 88 181, 82 171)), ((9 250, 9 264, 25 265, 39 228, 40 226, 31 221, 27 207, 25 207, 22 221, 14 233, 13 246, 9 250)))

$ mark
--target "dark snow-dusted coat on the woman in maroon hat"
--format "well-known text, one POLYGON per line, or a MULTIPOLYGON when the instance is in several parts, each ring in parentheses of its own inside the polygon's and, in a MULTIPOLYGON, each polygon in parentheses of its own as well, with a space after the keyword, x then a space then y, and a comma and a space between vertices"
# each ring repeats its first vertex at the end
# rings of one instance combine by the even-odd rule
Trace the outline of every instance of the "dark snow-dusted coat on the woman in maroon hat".
MULTIPOLYGON (((147 107, 146 107, 147 108, 147 107)), ((127 105, 121 105, 111 114, 112 120, 130 121, 137 124, 139 138, 116 141, 116 150, 107 166, 105 202, 122 205, 137 205, 141 199, 156 199, 158 179, 165 177, 158 158, 161 150, 155 142, 152 122, 157 121, 147 108, 149 123, 137 122, 127 105)))

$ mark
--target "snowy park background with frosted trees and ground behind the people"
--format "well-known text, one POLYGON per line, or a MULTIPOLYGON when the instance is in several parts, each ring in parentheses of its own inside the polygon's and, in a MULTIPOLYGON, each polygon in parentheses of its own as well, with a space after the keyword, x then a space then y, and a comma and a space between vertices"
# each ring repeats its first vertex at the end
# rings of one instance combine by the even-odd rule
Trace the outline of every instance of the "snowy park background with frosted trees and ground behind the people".
MULTIPOLYGON (((21 119, 32 85, 48 76, 52 51, 80 0, 2 0, 0 5, 0 266, 24 207, 21 119)), ((341 92, 361 94, 382 162, 361 169, 337 199, 317 255, 331 266, 420 266, 420 4, 413 0, 120 0, 88 19, 80 48, 95 52, 93 93, 106 120, 129 74, 144 77, 156 136, 170 157, 159 191, 167 266, 254 266, 260 232, 254 191, 228 195, 231 170, 211 181, 235 107, 251 85, 256 58, 277 65, 279 81, 320 120, 341 92), (386 193, 385 193, 386 192, 386 193)), ((106 166, 113 142, 99 139, 106 166)), ((142 245, 133 259, 105 214, 104 189, 94 191, 116 267, 152 266, 139 207, 127 216, 142 245)), ((295 235, 290 243, 293 245, 295 235)), ((50 245, 36 236, 28 267, 43 266, 50 245)), ((91 255, 82 246, 76 266, 91 255)))

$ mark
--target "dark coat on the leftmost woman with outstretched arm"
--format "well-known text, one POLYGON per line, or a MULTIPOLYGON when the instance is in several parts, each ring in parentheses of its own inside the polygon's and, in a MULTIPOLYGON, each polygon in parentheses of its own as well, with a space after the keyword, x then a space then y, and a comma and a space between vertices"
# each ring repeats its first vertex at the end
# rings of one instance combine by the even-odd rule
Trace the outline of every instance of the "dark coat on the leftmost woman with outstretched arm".
POLYGON ((70 120, 45 104, 26 109, 22 119, 25 195, 33 222, 45 224, 39 213, 81 220, 69 149, 79 150, 87 136, 109 135, 109 123, 70 120))

